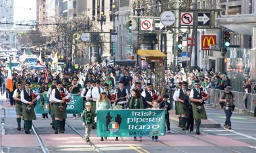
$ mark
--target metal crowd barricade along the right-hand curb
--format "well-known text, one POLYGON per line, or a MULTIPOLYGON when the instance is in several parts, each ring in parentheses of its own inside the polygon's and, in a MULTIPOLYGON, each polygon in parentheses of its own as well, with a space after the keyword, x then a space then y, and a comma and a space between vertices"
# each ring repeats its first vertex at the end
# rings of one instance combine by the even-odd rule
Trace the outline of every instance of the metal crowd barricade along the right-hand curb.
MULTIPOLYGON (((220 96, 222 95, 222 93, 224 93, 225 91, 221 91, 218 89, 208 89, 208 93, 210 93, 211 97, 210 97, 210 104, 212 106, 214 106, 215 108, 220 106, 220 96)), ((241 92, 236 92, 236 91, 232 91, 233 95, 234 95, 234 105, 236 105, 235 107, 235 111, 238 113, 249 113, 249 115, 254 115, 254 111, 255 111, 255 101, 256 101, 256 95, 253 93, 241 93, 241 92)))

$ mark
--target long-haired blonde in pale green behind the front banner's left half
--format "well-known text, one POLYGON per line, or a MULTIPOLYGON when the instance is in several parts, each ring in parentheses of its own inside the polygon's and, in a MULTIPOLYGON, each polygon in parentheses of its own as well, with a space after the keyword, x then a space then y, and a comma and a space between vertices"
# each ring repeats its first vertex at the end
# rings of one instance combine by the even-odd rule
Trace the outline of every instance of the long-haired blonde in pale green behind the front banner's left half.
MULTIPOLYGON (((106 97, 106 92, 105 91, 101 91, 100 92, 100 97, 96 101, 96 111, 104 110, 104 109, 110 109, 110 108, 111 108, 111 102, 108 99, 108 97, 106 97)), ((106 126, 108 127, 108 123, 106 123, 106 126)), ((106 129, 108 129, 108 128, 106 128, 106 129)), ((105 140, 106 140, 106 137, 105 137, 105 140)), ((100 138, 100 141, 104 141, 103 137, 100 138)))

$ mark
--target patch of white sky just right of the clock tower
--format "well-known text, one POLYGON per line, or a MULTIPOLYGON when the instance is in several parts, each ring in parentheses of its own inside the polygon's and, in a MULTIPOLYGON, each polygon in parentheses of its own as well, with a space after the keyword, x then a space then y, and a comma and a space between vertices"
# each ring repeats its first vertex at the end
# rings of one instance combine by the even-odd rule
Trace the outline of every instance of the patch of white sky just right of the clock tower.
POLYGON ((36 20, 36 0, 13 0, 14 22, 36 20))

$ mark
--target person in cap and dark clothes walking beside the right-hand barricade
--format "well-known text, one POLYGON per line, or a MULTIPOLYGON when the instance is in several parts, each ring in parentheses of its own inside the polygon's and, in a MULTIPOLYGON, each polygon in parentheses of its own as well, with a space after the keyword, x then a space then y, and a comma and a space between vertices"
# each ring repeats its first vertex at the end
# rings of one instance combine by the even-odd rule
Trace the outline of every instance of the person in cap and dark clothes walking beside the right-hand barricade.
POLYGON ((228 130, 231 130, 231 115, 232 115, 232 111, 234 109, 234 94, 231 91, 231 87, 227 86, 225 88, 225 92, 222 93, 222 95, 220 96, 220 103, 223 103, 224 107, 224 112, 226 115, 226 121, 224 123, 224 127, 228 130))

